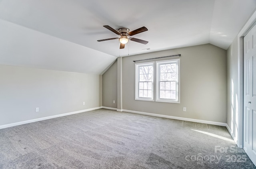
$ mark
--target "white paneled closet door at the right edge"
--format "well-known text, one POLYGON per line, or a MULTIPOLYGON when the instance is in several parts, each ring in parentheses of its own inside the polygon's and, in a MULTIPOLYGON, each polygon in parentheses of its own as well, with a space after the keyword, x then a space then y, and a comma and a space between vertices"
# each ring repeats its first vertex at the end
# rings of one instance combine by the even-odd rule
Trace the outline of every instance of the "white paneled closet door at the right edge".
POLYGON ((244 37, 244 150, 256 165, 256 26, 244 37))

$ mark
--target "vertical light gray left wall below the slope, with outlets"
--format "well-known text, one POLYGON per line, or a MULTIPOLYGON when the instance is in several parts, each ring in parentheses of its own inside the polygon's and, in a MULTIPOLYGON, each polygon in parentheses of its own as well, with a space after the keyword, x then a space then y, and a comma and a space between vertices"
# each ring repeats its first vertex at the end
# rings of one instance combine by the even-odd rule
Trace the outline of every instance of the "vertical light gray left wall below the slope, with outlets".
POLYGON ((100 106, 101 75, 0 65, 0 126, 100 106))

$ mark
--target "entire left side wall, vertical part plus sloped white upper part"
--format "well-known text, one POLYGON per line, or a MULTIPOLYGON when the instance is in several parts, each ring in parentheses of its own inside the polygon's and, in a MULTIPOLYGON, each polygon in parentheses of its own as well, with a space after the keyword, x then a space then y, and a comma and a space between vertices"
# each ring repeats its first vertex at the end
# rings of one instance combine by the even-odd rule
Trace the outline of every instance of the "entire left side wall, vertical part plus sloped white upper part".
POLYGON ((102 106, 100 74, 115 59, 0 20, 0 128, 102 106))

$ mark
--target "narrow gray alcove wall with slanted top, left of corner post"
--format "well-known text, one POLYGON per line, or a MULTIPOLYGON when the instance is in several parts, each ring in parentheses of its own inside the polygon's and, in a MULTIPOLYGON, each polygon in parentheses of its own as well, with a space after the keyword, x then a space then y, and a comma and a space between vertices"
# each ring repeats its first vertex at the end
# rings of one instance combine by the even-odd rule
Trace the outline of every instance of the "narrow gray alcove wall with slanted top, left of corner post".
POLYGON ((102 75, 102 106, 117 108, 117 61, 102 75))

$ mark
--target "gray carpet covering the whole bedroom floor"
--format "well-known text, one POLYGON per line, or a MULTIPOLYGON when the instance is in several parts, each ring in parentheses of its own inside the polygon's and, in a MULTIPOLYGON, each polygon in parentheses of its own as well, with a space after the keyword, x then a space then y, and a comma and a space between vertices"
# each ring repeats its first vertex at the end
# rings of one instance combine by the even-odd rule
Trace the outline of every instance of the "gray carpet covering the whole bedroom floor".
POLYGON ((99 109, 0 130, 1 169, 256 169, 226 127, 99 109))

